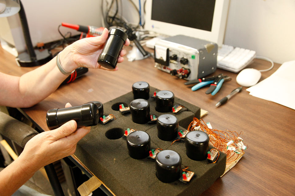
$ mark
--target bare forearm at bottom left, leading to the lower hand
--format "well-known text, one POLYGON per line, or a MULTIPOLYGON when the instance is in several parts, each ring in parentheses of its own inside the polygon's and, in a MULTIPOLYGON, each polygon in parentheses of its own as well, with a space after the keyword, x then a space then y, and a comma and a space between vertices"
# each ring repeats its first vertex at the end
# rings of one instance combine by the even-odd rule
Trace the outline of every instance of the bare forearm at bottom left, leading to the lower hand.
POLYGON ((38 170, 28 162, 17 158, 0 172, 0 195, 10 196, 38 170))

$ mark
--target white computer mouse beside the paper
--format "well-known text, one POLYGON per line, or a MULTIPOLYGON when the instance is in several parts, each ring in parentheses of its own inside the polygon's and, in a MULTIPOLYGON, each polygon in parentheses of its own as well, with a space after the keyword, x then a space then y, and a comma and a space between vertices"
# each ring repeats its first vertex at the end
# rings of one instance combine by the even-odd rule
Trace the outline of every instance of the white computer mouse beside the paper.
POLYGON ((237 75, 236 81, 239 85, 250 87, 260 80, 261 72, 252 68, 243 69, 237 75))

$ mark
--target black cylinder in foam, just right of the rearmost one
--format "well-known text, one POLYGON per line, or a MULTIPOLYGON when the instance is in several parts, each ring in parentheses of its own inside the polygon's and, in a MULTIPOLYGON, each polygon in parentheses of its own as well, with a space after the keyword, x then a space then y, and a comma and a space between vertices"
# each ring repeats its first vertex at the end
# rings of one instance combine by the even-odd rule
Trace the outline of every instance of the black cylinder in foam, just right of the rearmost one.
POLYGON ((174 94, 171 91, 163 90, 156 94, 156 111, 169 112, 174 104, 174 94))

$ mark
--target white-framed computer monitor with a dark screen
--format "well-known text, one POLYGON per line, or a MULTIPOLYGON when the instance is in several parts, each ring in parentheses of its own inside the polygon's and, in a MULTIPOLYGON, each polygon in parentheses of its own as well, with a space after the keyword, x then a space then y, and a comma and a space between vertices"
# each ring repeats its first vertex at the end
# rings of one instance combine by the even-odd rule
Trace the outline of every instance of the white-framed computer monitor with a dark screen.
POLYGON ((185 35, 221 46, 229 0, 147 0, 144 28, 167 36, 185 35))

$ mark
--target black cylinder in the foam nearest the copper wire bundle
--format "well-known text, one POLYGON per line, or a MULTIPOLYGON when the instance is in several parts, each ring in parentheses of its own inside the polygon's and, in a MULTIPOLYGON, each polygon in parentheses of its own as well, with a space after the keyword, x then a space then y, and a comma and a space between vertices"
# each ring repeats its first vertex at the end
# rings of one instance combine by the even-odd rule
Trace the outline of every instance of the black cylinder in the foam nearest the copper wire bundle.
POLYGON ((185 136, 187 156, 192 160, 205 160, 209 149, 209 136, 203 131, 190 131, 185 136))

